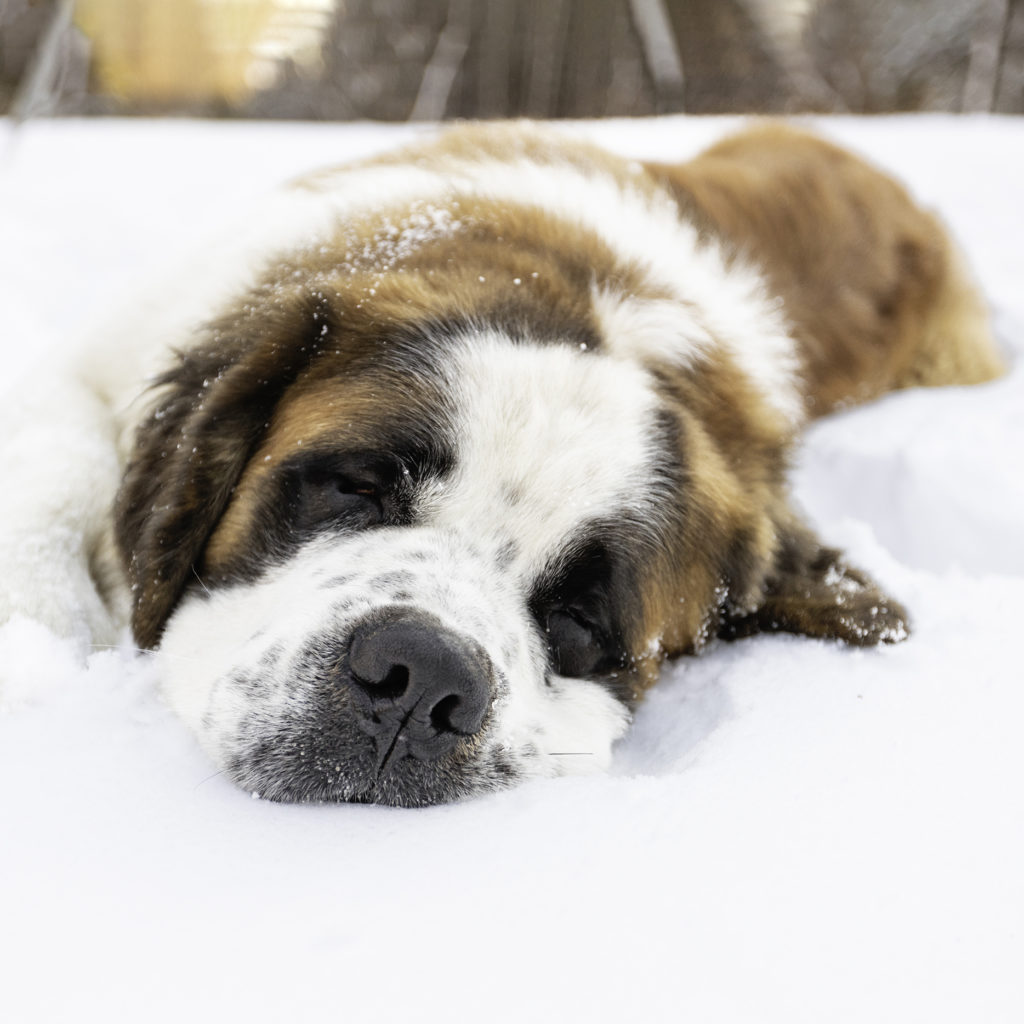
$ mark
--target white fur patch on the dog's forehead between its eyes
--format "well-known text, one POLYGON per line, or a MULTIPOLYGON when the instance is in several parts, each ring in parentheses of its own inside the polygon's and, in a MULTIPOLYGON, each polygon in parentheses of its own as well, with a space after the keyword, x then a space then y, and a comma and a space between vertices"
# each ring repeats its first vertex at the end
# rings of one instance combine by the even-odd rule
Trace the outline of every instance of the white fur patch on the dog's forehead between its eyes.
POLYGON ((492 332, 455 346, 450 380, 457 456, 426 503, 433 522, 512 542, 538 571, 582 525, 641 513, 657 399, 639 366, 492 332))

